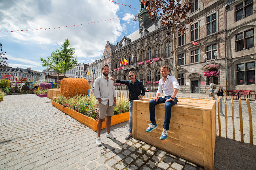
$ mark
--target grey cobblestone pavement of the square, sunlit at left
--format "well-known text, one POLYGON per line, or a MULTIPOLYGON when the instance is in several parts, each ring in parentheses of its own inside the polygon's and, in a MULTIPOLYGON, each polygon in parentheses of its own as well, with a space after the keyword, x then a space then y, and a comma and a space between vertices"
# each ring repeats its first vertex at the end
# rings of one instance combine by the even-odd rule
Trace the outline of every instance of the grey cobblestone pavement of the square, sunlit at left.
MULTIPOLYGON (((252 107, 254 126, 255 109, 252 107)), ((240 137, 238 128, 236 137, 240 137)), ((97 132, 59 111, 48 98, 4 96, 0 102, 0 170, 203 170, 142 141, 125 140, 127 129, 128 121, 112 126, 114 140, 104 137, 106 129, 102 129, 102 146, 98 147, 97 132)), ((255 143, 250 146, 248 142, 216 138, 215 169, 255 169, 255 158, 255 143)))

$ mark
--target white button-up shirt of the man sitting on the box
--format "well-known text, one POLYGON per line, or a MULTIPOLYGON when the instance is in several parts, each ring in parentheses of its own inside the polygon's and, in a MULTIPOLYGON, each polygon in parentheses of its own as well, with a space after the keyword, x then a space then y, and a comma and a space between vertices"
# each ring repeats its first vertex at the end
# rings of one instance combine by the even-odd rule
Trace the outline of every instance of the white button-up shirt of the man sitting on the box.
MULTIPOLYGON (((174 76, 168 75, 165 83, 163 83, 163 78, 159 80, 157 93, 161 95, 163 92, 162 98, 165 98, 165 96, 173 96, 174 89, 180 89, 180 85, 174 76)), ((175 97, 178 96, 176 95, 175 97)))

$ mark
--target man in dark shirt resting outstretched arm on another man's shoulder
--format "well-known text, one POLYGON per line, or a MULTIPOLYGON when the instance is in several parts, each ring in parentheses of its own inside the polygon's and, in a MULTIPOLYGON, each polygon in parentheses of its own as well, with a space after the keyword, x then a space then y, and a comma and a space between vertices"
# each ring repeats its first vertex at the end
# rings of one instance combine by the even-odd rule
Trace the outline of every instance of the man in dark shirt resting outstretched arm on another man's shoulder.
POLYGON ((129 111, 130 111, 130 119, 129 119, 129 129, 128 129, 128 135, 125 137, 125 139, 129 139, 133 136, 132 130, 133 130, 133 100, 142 100, 143 96, 145 96, 145 87, 142 83, 142 81, 137 80, 135 78, 135 72, 130 71, 129 72, 129 79, 130 80, 119 80, 114 79, 113 77, 110 77, 110 79, 114 80, 114 82, 122 83, 127 85, 128 91, 129 91, 129 111), (139 96, 141 97, 139 98, 139 96))

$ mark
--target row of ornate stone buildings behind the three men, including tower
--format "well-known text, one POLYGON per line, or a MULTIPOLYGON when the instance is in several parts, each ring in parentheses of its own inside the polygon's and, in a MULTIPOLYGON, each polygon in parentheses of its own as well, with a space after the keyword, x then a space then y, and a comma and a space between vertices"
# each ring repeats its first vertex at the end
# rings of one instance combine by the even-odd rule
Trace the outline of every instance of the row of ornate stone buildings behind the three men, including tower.
MULTIPOLYGON (((160 67, 167 65, 169 74, 174 75, 174 59, 177 59, 180 91, 205 93, 210 79, 203 76, 203 67, 214 62, 220 76, 213 78, 213 83, 220 82, 225 90, 256 89, 256 3, 253 0, 194 0, 188 14, 193 22, 184 23, 188 31, 185 35, 177 32, 176 42, 159 19, 150 20, 146 5, 140 7, 139 29, 123 37, 116 46, 106 44, 102 65, 110 66, 110 76, 127 80, 128 72, 133 70, 145 87, 155 91, 158 86, 155 82, 161 78, 160 67), (173 43, 176 43, 176 57, 173 43), (159 60, 145 62, 154 58, 159 60), (128 65, 119 70, 119 63, 124 59, 128 65)), ((91 65, 95 72, 96 63, 91 65)), ((85 78, 91 81, 99 75, 85 78)), ((119 88, 126 89, 121 85, 119 88)))

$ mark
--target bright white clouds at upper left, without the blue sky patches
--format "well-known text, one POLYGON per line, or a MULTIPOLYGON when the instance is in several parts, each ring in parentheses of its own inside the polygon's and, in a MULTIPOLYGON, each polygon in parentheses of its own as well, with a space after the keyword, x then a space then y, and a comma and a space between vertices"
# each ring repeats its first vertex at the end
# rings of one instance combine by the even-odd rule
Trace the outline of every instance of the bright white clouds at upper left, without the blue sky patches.
MULTIPOLYGON (((4 36, 1 35, 1 38, 20 43, 42 44, 39 48, 45 50, 47 47, 44 45, 61 45, 68 38, 71 46, 76 50, 75 55, 85 61, 100 58, 106 41, 115 42, 126 31, 126 27, 120 24, 119 19, 113 20, 119 17, 117 15, 119 6, 105 0, 8 0, 0 4, 1 30, 13 30, 13 33, 7 32, 4 36), (104 21, 110 18, 112 19, 104 21), (100 22, 97 22, 98 20, 100 22), (90 24, 87 24, 88 22, 90 24), (82 25, 77 26, 77 24, 82 25), (67 27, 62 28, 62 26, 67 27)), ((130 18, 133 17, 127 16, 122 19, 130 22, 130 18)), ((15 58, 15 61, 18 59, 15 58)), ((20 60, 23 63, 25 61, 20 60)), ((38 62, 33 65, 42 66, 38 62)))

